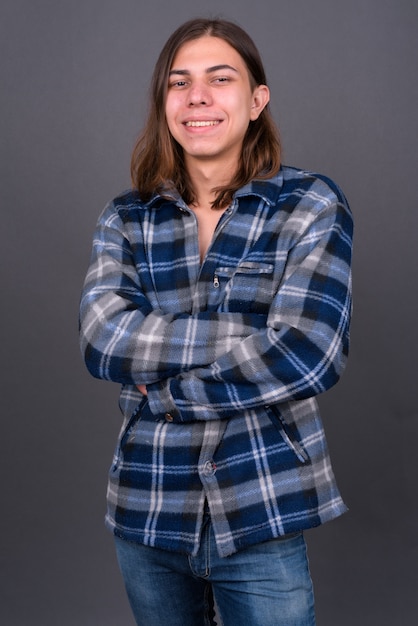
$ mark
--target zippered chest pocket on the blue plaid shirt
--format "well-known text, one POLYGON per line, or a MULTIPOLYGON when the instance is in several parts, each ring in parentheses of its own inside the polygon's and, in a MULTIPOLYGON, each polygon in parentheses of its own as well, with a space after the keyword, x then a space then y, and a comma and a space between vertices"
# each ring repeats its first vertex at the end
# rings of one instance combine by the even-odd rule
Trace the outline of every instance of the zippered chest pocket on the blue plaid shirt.
POLYGON ((272 263, 243 261, 236 267, 219 266, 214 276, 218 302, 231 312, 267 313, 275 293, 273 276, 272 263))

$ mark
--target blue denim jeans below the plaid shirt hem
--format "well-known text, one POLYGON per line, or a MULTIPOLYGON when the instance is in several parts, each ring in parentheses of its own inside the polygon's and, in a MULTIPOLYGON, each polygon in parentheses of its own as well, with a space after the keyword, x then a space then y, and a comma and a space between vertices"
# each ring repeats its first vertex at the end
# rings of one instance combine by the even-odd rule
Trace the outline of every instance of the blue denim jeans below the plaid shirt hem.
POLYGON ((210 519, 199 553, 187 556, 115 537, 138 626, 315 626, 303 535, 219 557, 210 519))

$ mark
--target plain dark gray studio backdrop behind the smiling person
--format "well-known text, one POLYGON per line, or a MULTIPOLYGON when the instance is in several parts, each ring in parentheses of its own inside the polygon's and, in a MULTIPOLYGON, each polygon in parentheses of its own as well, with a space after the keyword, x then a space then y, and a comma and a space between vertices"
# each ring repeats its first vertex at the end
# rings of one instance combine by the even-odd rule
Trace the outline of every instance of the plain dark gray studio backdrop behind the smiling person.
POLYGON ((257 42, 284 161, 356 220, 343 380, 321 403, 350 513, 308 533, 318 626, 418 623, 416 0, 2 0, 1 575, 5 626, 132 626, 103 528, 117 386, 89 377, 78 300, 94 224, 129 186, 171 31, 257 42))

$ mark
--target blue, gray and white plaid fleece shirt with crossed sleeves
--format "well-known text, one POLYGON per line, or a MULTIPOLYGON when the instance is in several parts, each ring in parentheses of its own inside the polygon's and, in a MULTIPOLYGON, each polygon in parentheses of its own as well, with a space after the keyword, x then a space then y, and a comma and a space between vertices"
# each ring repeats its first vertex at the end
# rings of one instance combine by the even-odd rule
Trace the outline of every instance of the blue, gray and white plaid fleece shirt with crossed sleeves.
POLYGON ((345 511, 315 396, 346 362, 351 244, 339 188, 288 167, 235 194, 203 263, 175 193, 106 207, 80 319, 89 371, 122 385, 115 534, 196 554, 206 501, 226 556, 345 511))

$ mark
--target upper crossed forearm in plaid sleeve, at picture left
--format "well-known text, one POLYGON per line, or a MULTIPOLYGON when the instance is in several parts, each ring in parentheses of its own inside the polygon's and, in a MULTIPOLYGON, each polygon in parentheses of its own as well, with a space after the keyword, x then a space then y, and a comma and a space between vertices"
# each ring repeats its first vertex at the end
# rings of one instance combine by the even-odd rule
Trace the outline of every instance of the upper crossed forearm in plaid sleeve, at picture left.
POLYGON ((223 353, 256 332, 265 316, 200 313, 178 316, 131 311, 114 293, 82 303, 81 346, 97 378, 123 384, 150 384, 216 362, 223 353))

